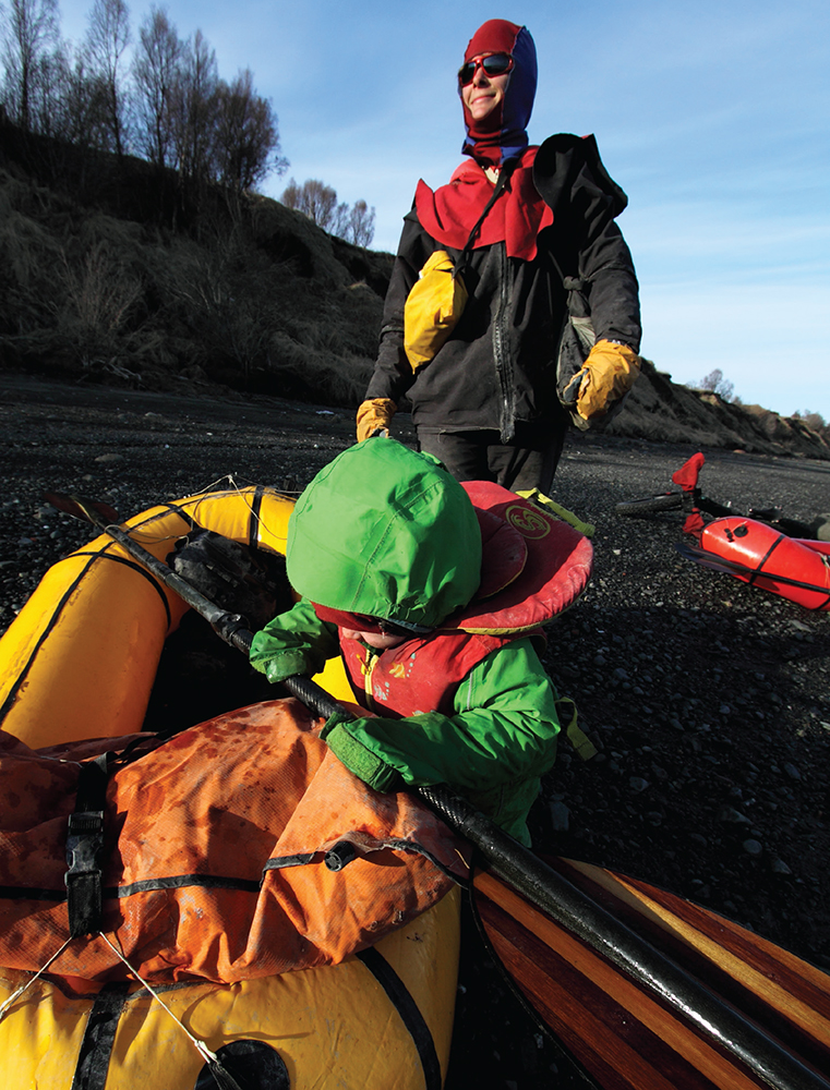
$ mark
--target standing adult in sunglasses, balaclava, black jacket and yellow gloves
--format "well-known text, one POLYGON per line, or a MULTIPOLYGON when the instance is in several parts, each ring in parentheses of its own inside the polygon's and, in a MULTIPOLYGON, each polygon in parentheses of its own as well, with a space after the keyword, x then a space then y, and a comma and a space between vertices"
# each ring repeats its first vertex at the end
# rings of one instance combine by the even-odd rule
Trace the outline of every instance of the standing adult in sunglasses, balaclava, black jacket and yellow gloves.
POLYGON ((614 222, 627 198, 592 136, 529 146, 536 88, 527 27, 479 27, 458 73, 468 158, 434 192, 419 182, 405 217, 358 438, 386 432, 406 396, 421 450, 458 480, 546 493, 569 423, 605 417, 637 377, 640 323, 614 222), (424 350, 423 301, 414 317, 407 301, 433 266, 419 290, 460 271, 467 298, 430 295, 424 350))

